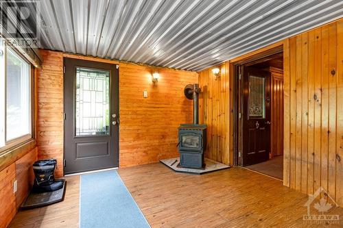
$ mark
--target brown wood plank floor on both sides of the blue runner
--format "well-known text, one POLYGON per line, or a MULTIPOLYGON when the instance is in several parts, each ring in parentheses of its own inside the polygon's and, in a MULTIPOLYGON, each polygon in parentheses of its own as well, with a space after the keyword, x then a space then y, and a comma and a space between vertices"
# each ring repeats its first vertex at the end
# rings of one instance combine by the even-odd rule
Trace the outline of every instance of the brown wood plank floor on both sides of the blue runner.
MULTIPOLYGON (((174 173, 163 164, 119 169, 152 227, 314 227, 303 223, 308 197, 244 168, 206 175, 174 173)), ((77 227, 79 177, 67 177, 62 203, 19 212, 10 227, 77 227)), ((341 227, 343 209, 339 214, 341 227)))

